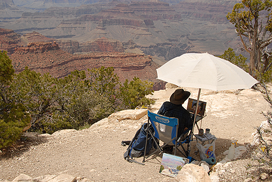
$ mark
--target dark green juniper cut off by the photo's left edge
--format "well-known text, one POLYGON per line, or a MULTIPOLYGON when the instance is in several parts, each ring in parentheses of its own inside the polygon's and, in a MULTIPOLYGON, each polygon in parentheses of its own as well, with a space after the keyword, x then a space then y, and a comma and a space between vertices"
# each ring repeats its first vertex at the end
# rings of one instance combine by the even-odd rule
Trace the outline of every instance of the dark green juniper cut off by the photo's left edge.
POLYGON ((26 107, 9 99, 14 69, 6 51, 0 51, 0 148, 20 138, 31 117, 26 107))

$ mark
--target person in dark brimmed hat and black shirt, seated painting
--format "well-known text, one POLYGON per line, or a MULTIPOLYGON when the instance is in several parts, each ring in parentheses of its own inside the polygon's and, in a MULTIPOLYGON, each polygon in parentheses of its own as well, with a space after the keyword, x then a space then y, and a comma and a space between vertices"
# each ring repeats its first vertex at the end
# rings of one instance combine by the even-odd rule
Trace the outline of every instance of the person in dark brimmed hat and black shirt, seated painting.
POLYGON ((162 104, 158 114, 179 119, 178 137, 193 125, 190 113, 182 107, 184 101, 190 96, 189 91, 177 89, 170 97, 170 102, 162 104))

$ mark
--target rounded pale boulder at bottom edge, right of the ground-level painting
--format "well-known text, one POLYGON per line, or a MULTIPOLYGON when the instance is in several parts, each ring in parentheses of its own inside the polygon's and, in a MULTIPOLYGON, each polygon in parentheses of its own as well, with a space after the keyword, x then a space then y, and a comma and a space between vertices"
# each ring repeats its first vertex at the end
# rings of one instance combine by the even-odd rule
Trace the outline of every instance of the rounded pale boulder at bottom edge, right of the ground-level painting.
POLYGON ((175 179, 177 182, 211 182, 208 173, 195 164, 185 164, 175 179))

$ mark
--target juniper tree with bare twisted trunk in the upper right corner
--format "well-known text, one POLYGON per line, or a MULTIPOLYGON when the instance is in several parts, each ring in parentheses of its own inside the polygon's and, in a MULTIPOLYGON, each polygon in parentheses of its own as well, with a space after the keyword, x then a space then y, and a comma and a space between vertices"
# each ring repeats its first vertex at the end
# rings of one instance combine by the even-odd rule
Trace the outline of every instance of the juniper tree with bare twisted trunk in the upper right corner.
POLYGON ((242 0, 227 14, 244 49, 250 53, 249 73, 257 79, 272 67, 271 52, 266 49, 272 43, 271 7, 272 0, 242 0))

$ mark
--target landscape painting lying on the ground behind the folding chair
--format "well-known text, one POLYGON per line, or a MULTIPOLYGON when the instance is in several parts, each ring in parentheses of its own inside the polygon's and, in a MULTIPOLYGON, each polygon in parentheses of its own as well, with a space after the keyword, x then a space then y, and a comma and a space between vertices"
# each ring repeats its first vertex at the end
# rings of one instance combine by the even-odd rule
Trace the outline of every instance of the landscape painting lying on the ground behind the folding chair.
POLYGON ((189 159, 163 153, 160 174, 175 178, 181 168, 189 163, 189 159))

